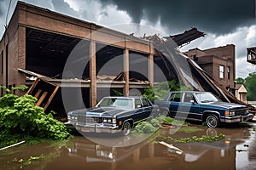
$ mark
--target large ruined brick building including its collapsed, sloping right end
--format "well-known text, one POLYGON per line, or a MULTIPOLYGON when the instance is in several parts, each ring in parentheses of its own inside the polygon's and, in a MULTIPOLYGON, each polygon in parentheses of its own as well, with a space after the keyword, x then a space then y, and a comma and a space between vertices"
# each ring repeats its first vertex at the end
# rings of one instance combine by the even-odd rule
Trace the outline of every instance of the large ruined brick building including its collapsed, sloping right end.
MULTIPOLYGON (((196 29, 184 34, 192 34, 193 37, 189 35, 186 37, 190 38, 186 39, 177 35, 171 38, 176 39, 176 45, 179 45, 204 36, 196 29)), ((162 53, 168 51, 167 43, 156 47, 150 38, 133 37, 18 2, 0 42, 0 84, 8 88, 20 84, 31 86, 35 82, 34 77, 40 77, 43 80, 41 87, 30 93, 38 97, 40 105, 62 113, 65 112, 61 98, 63 89, 73 94, 67 103, 72 105, 69 109, 74 110, 81 105, 96 105, 103 96, 113 95, 114 90, 125 95, 137 95, 144 88, 154 86, 154 82, 165 81, 160 73, 166 80, 181 78, 185 85, 189 84, 195 90, 212 91, 225 101, 236 101, 186 56, 177 52, 162 53), (79 53, 74 49, 79 49, 79 53), (71 55, 75 57, 67 65, 71 55), (187 63, 187 68, 178 63, 187 63), (66 67, 68 69, 64 71, 66 67), (83 68, 83 71, 76 74, 78 68, 83 68), (53 86, 49 88, 44 81, 53 86), (76 98, 76 94, 81 94, 82 99, 76 98), (49 99, 52 100, 50 103, 49 99)), ((168 47, 173 47, 170 42, 168 47)))

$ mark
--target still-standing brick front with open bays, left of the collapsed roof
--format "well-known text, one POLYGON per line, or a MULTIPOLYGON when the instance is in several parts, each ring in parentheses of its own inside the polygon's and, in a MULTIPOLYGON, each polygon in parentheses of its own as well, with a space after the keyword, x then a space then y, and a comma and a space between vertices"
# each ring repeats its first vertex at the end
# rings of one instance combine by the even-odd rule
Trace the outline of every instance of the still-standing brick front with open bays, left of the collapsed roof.
MULTIPOLYGON (((23 2, 17 3, 3 34, 0 54, 1 85, 30 86, 32 77, 20 70, 32 71, 50 77, 49 82, 67 88, 71 94, 82 90, 86 107, 96 105, 112 89, 129 95, 136 91, 133 88, 139 92, 152 85, 154 63, 161 62, 160 59, 154 62, 157 55, 148 40, 23 2), (68 60, 70 56, 72 60, 68 60), (65 66, 68 66, 66 72, 65 66), (101 79, 120 73, 122 79, 101 79), (138 79, 137 75, 143 77, 131 81, 138 79)), ((81 99, 70 99, 70 102, 73 109, 78 109, 81 99)))

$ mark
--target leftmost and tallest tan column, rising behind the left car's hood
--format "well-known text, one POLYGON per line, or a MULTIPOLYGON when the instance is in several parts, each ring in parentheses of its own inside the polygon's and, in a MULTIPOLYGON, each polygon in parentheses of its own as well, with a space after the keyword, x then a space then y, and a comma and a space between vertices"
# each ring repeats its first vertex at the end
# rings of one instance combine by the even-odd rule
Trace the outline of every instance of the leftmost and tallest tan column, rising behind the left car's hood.
POLYGON ((96 105, 96 42, 90 41, 90 107, 96 105))

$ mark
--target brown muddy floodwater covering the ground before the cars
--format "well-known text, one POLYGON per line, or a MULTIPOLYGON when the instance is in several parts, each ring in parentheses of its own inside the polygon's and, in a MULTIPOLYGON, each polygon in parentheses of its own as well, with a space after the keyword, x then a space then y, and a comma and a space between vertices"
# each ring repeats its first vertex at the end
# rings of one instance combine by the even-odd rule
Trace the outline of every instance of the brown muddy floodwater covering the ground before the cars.
MULTIPOLYGON (((256 169, 256 122, 235 127, 207 128, 196 133, 170 133, 172 138, 218 135, 225 139, 218 142, 173 144, 182 150, 177 153, 152 139, 127 145, 131 138, 123 138, 126 144, 115 147, 97 144, 84 136, 75 136, 63 142, 34 144, 0 150, 0 169, 256 169)), ((95 137, 116 141, 116 136, 95 137)), ((170 144, 170 143, 169 143, 170 144)))

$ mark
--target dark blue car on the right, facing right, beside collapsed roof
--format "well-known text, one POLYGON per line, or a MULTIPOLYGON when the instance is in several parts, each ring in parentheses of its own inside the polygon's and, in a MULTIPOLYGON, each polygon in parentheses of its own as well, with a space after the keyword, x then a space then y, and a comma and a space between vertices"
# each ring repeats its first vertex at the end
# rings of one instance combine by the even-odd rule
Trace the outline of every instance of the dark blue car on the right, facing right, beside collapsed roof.
POLYGON ((246 105, 222 102, 210 92, 170 92, 164 100, 154 101, 160 111, 170 116, 206 122, 208 127, 218 127, 221 122, 244 122, 253 119, 246 105))

